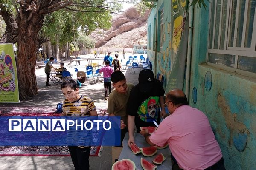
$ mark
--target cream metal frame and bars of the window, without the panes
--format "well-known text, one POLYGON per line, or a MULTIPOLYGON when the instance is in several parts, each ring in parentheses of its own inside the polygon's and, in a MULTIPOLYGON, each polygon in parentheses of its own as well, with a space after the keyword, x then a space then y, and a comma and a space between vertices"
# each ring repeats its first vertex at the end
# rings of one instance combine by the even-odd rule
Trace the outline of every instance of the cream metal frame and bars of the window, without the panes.
MULTIPOLYGON (((221 0, 221 8, 220 8, 220 20, 218 23, 218 46, 217 49, 214 49, 215 44, 215 26, 216 26, 216 11, 217 11, 217 2, 218 0, 215 0, 214 4, 214 16, 213 16, 213 23, 212 23, 212 4, 209 3, 209 25, 208 25, 208 39, 207 39, 207 57, 206 62, 207 65, 211 65, 217 68, 222 68, 227 71, 231 71, 234 73, 244 74, 247 76, 255 77, 256 73, 250 72, 250 71, 244 71, 238 69, 238 57, 239 56, 246 56, 246 57, 255 57, 256 58, 256 5, 255 5, 255 12, 254 12, 254 20, 253 20, 253 28, 252 28, 252 37, 251 37, 251 45, 250 47, 244 47, 245 45, 245 34, 246 34, 246 24, 249 20, 247 20, 247 14, 248 14, 248 6, 249 6, 249 0, 245 0, 245 9, 244 9, 244 21, 243 21, 243 32, 242 32, 242 39, 241 39, 241 47, 236 47, 236 38, 237 38, 237 31, 234 31, 234 39, 233 39, 233 47, 229 47, 229 37, 230 37, 230 29, 231 29, 231 19, 232 19, 232 4, 234 0, 227 0, 227 17, 226 17, 226 25, 225 25, 225 37, 224 37, 224 49, 220 49, 220 43, 221 43, 221 26, 222 26, 222 12, 223 12, 223 3, 224 1, 221 0), (211 26, 213 24, 213 28, 211 30, 211 26), (212 33, 211 33, 212 31, 212 33), (211 37, 212 36, 212 37, 211 37), (210 40, 212 42, 210 42, 210 40), (211 45, 211 47, 209 47, 211 45), (235 56, 235 63, 234 68, 230 68, 225 65, 219 65, 215 63, 208 62, 209 53, 215 53, 215 54, 229 54, 235 56), (245 54, 246 53, 246 54, 245 54)), ((236 22, 235 22, 235 29, 237 29, 238 20, 239 20, 239 0, 237 0, 236 4, 236 22)))

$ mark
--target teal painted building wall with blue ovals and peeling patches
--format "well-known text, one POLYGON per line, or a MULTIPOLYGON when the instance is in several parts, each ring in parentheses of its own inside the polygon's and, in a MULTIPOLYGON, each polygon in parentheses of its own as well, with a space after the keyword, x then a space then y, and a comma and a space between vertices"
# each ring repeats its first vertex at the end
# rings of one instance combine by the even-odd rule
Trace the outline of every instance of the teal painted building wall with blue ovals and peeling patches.
MULTIPOLYGON (((158 0, 157 8, 153 9, 148 17, 148 26, 151 24, 151 34, 148 36, 151 36, 152 46, 148 47, 148 57, 153 63, 154 73, 164 75, 164 87, 166 87, 172 63, 170 9, 170 0, 158 0), (154 18, 157 19, 157 11, 163 3, 164 50, 156 52, 153 50, 153 37, 156 34, 153 31, 154 18)), ((195 7, 193 18, 189 105, 200 109, 208 116, 220 144, 227 170, 255 170, 256 78, 207 65, 208 8, 205 10, 195 7)))

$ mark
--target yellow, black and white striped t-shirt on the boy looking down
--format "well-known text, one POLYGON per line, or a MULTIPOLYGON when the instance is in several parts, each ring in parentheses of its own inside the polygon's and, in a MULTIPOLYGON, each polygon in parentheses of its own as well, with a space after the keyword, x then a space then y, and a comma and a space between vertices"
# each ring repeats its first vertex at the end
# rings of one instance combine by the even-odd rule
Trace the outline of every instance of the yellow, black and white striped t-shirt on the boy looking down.
POLYGON ((65 99, 62 105, 62 112, 67 116, 89 116, 90 111, 95 109, 93 100, 86 96, 81 96, 74 102, 69 102, 65 99))

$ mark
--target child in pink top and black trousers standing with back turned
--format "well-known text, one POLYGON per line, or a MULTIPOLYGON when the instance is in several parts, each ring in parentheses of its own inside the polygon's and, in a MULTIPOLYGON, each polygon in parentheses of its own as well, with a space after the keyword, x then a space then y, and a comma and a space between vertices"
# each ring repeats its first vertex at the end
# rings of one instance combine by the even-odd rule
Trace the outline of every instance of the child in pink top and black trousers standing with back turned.
POLYGON ((110 64, 109 60, 106 60, 105 64, 106 65, 99 70, 99 73, 103 72, 105 100, 107 100, 108 99, 108 90, 109 90, 109 93, 111 93, 111 91, 112 91, 110 77, 114 71, 113 71, 113 68, 109 66, 109 64, 110 64))

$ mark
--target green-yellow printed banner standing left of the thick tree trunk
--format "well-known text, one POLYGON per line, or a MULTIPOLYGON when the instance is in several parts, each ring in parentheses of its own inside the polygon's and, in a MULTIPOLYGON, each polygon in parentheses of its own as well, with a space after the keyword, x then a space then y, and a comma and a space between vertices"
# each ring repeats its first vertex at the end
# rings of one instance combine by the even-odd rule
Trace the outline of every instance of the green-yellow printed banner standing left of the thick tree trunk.
POLYGON ((0 102, 20 102, 13 45, 0 44, 0 102))

